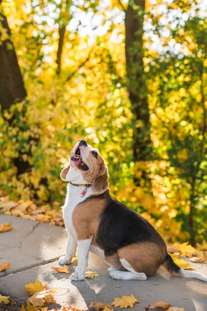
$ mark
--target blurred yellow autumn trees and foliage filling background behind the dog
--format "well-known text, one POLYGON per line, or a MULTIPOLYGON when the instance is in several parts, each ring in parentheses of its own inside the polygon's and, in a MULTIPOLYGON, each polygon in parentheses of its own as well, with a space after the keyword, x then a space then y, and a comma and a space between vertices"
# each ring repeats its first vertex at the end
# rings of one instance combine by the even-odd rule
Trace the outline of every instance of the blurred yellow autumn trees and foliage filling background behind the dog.
POLYGON ((205 241, 206 46, 202 0, 0 0, 1 194, 58 208, 84 138, 112 195, 205 241))

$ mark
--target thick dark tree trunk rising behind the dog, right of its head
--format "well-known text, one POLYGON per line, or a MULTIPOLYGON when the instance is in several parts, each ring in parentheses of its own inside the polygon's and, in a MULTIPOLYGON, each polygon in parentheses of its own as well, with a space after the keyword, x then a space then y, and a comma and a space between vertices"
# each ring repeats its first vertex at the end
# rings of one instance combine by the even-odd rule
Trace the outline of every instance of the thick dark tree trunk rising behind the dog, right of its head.
POLYGON ((125 53, 128 91, 134 114, 134 161, 151 159, 150 115, 147 86, 143 78, 143 20, 145 0, 129 1, 125 17, 125 53))

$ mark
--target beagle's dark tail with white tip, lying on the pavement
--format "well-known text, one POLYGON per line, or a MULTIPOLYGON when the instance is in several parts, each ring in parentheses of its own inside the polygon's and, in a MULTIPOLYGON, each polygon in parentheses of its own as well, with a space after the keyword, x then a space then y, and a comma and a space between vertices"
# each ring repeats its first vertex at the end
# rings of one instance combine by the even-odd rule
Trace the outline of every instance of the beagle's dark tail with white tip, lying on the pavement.
POLYGON ((162 265, 173 276, 180 276, 183 278, 194 278, 207 282, 206 275, 195 271, 187 271, 178 267, 174 263, 172 257, 169 254, 167 254, 167 256, 165 257, 162 265))

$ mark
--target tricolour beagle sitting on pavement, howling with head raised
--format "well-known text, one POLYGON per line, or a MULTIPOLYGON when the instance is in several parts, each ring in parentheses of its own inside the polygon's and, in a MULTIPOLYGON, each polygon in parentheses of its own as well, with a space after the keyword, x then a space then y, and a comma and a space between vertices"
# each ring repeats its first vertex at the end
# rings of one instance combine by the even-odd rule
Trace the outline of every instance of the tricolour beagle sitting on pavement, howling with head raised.
POLYGON ((78 248, 78 266, 71 281, 85 279, 89 251, 110 266, 115 280, 146 280, 163 265, 171 275, 207 281, 207 276, 179 268, 166 244, 142 216, 109 194, 104 158, 85 140, 78 142, 60 176, 68 182, 62 208, 69 233, 67 251, 59 263, 69 264, 78 248))

